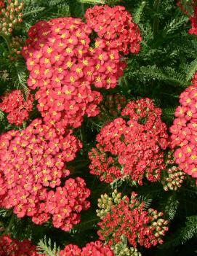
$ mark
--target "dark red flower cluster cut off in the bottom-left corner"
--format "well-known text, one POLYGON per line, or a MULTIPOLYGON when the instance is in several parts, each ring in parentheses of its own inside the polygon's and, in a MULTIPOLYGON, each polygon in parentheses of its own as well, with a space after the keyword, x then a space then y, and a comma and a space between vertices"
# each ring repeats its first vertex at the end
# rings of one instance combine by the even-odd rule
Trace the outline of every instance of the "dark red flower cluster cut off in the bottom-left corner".
MULTIPOLYGON (((39 256, 31 241, 17 241, 10 236, 0 236, 0 256, 39 256)), ((41 255, 40 255, 41 256, 41 255)))

